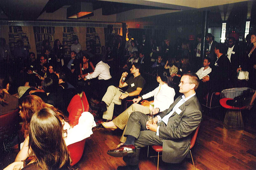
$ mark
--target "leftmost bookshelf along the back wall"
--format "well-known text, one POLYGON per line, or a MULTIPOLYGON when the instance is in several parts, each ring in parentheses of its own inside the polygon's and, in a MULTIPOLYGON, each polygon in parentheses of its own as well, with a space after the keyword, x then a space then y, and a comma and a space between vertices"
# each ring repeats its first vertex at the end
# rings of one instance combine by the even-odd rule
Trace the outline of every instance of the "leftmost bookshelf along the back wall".
POLYGON ((9 27, 9 46, 11 53, 13 55, 14 48, 17 47, 17 41, 22 40, 24 43, 24 48, 30 49, 27 33, 22 31, 21 26, 10 26, 9 27))

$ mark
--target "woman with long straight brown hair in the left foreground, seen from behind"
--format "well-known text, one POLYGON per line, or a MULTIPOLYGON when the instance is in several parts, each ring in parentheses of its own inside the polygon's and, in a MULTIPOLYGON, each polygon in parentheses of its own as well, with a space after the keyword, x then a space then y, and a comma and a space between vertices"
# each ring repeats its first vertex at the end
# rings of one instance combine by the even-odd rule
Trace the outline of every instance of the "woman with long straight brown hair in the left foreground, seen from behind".
POLYGON ((43 108, 31 116, 27 147, 35 157, 28 163, 14 162, 6 169, 72 169, 71 158, 62 138, 65 134, 62 123, 50 108, 43 108))

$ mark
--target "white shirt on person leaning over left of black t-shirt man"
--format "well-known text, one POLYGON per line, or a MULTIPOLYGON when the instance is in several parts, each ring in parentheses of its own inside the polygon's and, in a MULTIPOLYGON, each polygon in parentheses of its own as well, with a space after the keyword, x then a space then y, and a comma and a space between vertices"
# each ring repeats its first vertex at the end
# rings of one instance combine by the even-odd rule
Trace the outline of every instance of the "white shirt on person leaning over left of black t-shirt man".
POLYGON ((100 61, 94 69, 94 72, 92 74, 88 74, 85 76, 86 79, 94 79, 98 77, 98 80, 108 80, 111 78, 110 72, 109 72, 110 66, 107 63, 103 63, 100 61))

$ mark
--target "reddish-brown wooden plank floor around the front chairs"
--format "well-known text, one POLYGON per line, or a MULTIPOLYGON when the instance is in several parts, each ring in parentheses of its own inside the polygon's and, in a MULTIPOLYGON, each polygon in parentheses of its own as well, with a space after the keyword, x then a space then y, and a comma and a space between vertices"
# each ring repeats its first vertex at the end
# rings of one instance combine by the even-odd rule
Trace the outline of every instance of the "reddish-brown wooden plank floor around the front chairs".
MULTIPOLYGON (((245 130, 230 131, 223 126, 220 117, 204 113, 196 144, 191 150, 196 169, 256 169, 256 116, 255 112, 243 114, 245 130)), ((118 145, 121 134, 121 130, 95 130, 86 140, 84 155, 76 167, 107 170, 124 166, 122 158, 107 155, 109 149, 118 145)), ((157 153, 153 151, 150 155, 157 153)), ((140 159, 140 169, 157 169, 157 157, 147 158, 147 148, 142 149, 140 159)), ((191 159, 181 164, 166 164, 161 160, 159 169, 194 169, 194 166, 191 159)))

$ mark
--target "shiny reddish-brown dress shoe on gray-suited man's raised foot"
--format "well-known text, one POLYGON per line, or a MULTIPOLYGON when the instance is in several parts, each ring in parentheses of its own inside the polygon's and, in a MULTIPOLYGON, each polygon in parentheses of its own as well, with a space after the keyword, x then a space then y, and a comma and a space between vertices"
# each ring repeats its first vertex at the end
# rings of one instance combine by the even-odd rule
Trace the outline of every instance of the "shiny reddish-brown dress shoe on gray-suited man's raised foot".
POLYGON ((114 157, 133 156, 136 154, 134 145, 122 145, 119 148, 109 150, 108 155, 114 157))

